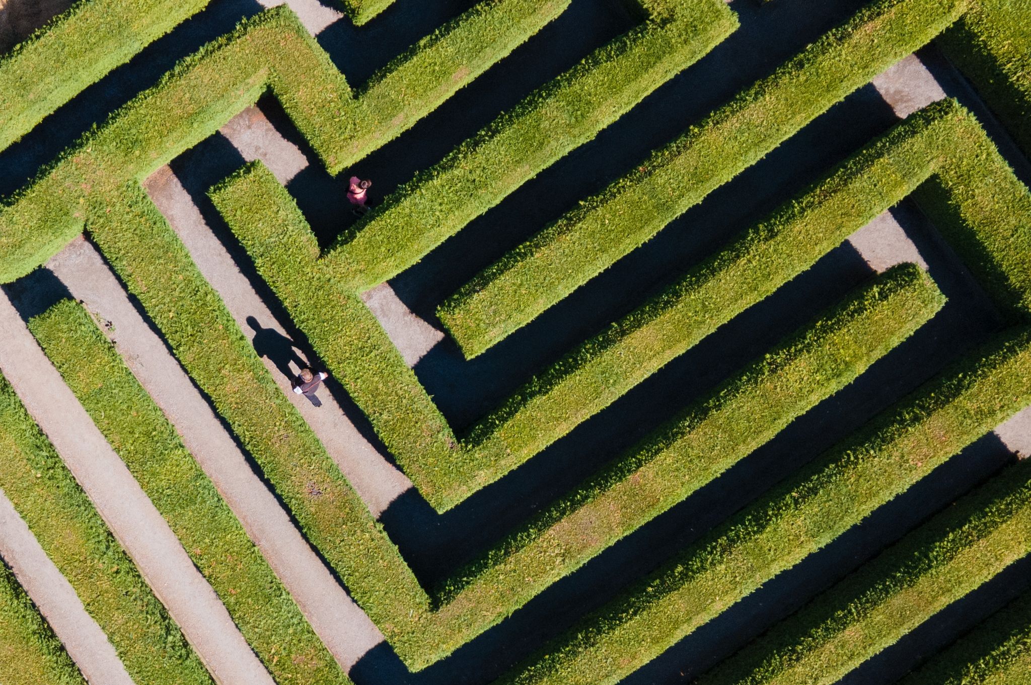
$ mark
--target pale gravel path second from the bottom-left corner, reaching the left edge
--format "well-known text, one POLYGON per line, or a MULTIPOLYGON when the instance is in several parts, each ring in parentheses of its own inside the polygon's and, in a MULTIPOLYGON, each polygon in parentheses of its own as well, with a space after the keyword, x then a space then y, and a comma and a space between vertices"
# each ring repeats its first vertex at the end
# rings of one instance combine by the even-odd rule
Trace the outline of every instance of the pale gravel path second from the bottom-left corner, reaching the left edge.
POLYGON ((0 370, 215 680, 221 685, 274 685, 6 294, 0 295, 0 370))

